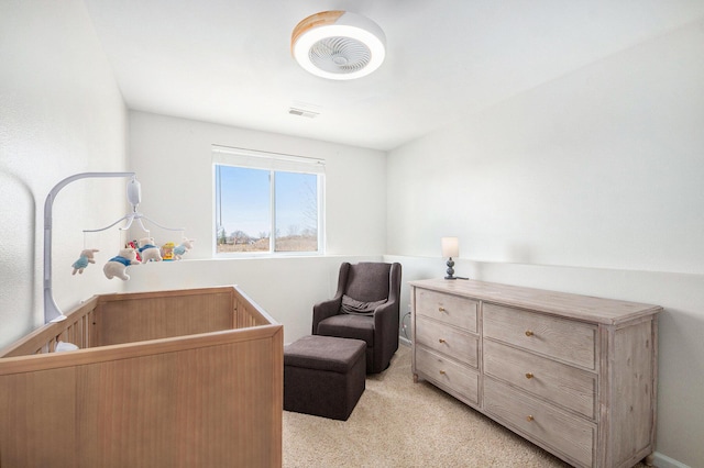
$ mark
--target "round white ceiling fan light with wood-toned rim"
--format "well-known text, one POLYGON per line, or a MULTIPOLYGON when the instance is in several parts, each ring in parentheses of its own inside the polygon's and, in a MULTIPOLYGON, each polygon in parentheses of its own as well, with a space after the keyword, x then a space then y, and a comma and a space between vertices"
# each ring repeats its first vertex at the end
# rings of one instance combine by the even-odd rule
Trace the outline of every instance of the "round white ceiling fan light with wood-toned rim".
POLYGON ((329 79, 354 79, 377 69, 386 57, 384 31, 361 14, 323 11, 294 27, 290 53, 307 71, 329 79))

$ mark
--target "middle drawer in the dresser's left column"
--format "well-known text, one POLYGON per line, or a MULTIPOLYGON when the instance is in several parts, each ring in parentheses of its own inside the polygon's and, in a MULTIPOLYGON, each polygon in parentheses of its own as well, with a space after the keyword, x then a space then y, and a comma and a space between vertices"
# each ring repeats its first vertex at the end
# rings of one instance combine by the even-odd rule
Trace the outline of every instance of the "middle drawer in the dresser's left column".
POLYGON ((480 342, 477 336, 420 316, 416 320, 416 342, 447 354, 475 369, 479 367, 480 342))

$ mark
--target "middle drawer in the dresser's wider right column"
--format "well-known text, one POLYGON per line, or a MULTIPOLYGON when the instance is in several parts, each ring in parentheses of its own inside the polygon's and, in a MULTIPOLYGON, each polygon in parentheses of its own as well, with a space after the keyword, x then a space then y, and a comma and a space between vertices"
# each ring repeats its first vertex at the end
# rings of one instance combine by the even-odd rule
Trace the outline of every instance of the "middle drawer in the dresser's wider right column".
POLYGON ((484 341, 484 372, 588 419, 596 417, 596 374, 493 341, 484 341))

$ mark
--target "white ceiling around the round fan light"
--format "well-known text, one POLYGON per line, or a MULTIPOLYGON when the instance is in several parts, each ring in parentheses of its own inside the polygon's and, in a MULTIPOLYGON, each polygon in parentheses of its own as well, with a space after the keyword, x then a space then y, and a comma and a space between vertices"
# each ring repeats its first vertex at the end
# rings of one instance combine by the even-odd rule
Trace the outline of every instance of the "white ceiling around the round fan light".
POLYGON ((85 1, 130 109, 383 151, 704 16, 702 0, 85 1), (326 10, 380 24, 377 71, 332 81, 292 58, 326 10))

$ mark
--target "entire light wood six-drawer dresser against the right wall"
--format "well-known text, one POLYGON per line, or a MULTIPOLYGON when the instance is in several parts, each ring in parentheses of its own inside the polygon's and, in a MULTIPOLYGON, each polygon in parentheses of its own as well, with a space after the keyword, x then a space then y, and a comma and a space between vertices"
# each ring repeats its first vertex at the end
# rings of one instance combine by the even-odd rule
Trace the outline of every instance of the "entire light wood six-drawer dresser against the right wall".
POLYGON ((654 450, 658 305, 411 281, 414 379, 578 467, 654 450))

